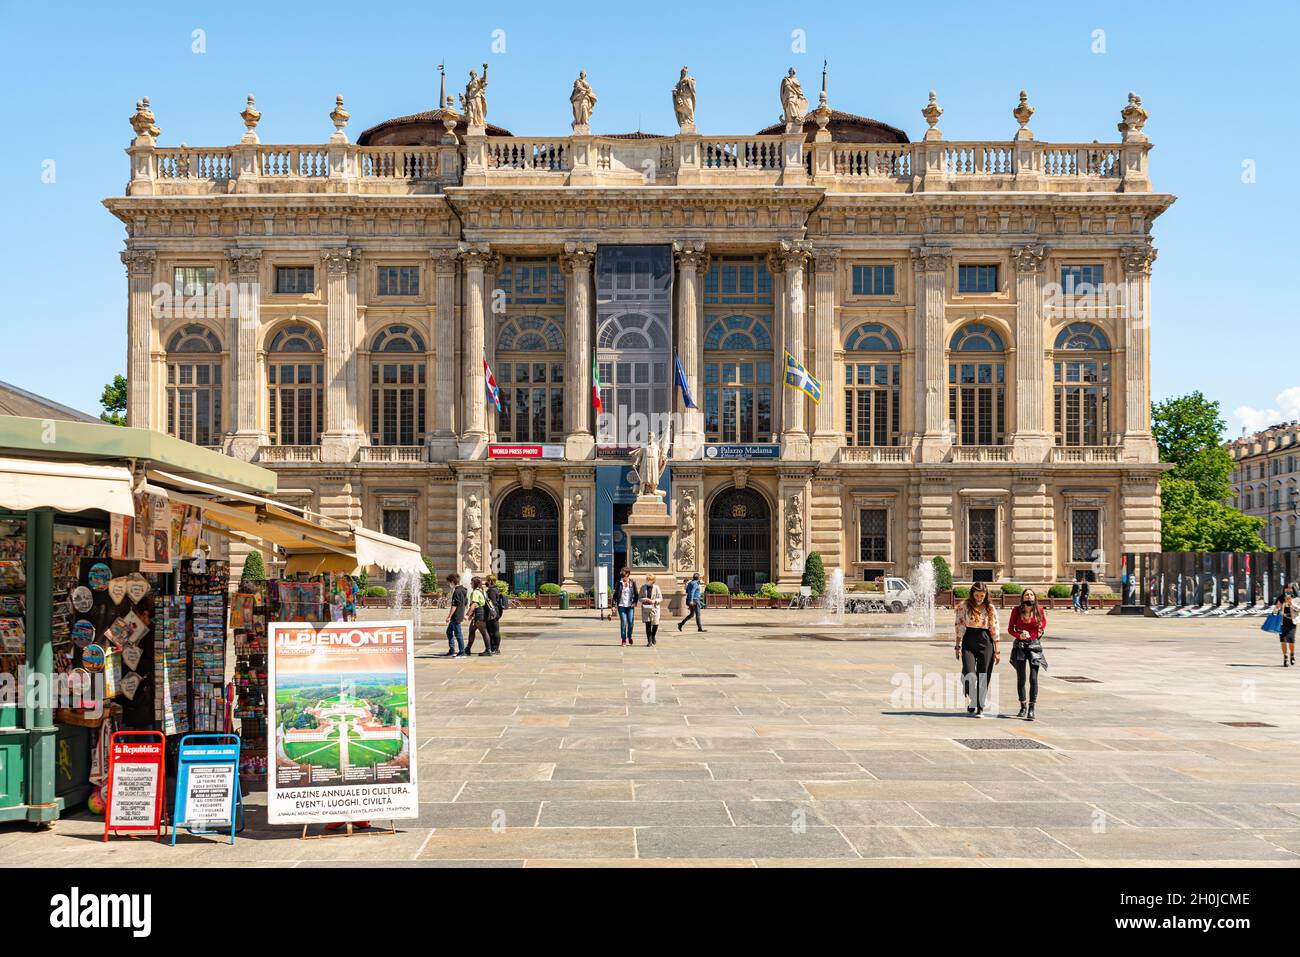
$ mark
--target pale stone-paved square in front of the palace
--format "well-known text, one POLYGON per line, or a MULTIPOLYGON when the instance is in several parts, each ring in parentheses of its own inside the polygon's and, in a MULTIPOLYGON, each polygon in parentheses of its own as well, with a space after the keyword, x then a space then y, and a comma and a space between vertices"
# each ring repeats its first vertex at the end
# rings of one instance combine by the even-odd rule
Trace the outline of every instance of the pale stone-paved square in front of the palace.
POLYGON ((862 615, 706 616, 623 649, 594 612, 516 610, 499 658, 456 661, 426 629, 422 814, 395 836, 299 840, 254 794, 234 846, 104 844, 78 811, 0 826, 0 863, 1300 863, 1300 670, 1258 619, 1057 611, 1026 723, 1006 661, 998 718, 952 700, 945 612, 928 640, 846 640, 879 620, 862 615), (988 739, 1045 746, 962 744, 988 739))

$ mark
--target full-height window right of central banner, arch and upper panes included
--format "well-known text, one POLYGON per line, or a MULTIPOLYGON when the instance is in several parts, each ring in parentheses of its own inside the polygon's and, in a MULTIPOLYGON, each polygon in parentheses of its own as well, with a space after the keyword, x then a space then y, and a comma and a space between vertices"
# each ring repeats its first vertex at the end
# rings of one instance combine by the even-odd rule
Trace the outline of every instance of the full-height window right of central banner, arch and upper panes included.
POLYGON ((705 273, 705 437, 772 437, 772 274, 759 256, 719 256, 705 273))

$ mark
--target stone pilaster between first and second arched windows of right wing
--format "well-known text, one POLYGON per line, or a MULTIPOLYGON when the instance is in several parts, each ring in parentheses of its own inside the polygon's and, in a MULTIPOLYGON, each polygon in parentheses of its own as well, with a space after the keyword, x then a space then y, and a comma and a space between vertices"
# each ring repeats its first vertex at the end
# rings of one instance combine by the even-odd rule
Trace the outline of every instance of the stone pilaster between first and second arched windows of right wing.
POLYGON ((911 251, 916 298, 916 391, 914 398, 919 439, 916 462, 942 462, 952 447, 948 424, 948 376, 944 369, 944 304, 948 299, 949 251, 918 246, 911 251))

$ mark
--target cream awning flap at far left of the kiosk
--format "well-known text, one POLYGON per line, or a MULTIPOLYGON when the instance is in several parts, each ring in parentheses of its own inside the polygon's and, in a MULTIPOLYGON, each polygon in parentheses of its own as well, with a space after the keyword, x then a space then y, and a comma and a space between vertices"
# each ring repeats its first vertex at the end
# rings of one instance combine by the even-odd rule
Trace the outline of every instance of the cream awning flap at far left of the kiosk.
POLYGON ((0 458, 0 508, 134 515, 131 473, 120 465, 0 458))

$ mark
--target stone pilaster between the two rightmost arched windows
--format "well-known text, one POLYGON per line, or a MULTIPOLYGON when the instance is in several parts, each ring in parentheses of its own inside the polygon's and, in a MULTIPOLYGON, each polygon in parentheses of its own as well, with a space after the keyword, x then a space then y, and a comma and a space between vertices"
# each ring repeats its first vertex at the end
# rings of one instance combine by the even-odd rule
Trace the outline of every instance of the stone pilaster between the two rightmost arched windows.
MULTIPOLYGON (((1043 276, 1048 248, 1013 246, 1015 263, 1015 432, 1017 462, 1043 462, 1050 455, 1053 430, 1046 428, 1046 342, 1043 316, 1043 276)), ((1037 581, 1039 579, 1019 579, 1037 581)))

